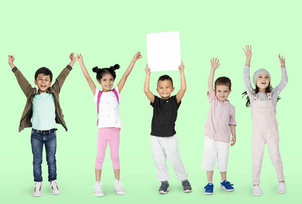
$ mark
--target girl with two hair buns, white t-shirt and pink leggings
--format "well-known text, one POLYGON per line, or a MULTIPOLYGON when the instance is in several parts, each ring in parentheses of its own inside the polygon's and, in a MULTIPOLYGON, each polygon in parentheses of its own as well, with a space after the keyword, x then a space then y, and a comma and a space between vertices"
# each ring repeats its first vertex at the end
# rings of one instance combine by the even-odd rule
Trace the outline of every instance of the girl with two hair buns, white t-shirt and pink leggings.
POLYGON ((94 101, 97 103, 98 152, 95 163, 96 185, 94 186, 94 194, 96 196, 104 195, 102 190, 103 184, 101 183, 101 173, 108 141, 115 176, 114 189, 117 194, 125 194, 125 189, 120 182, 119 143, 121 121, 119 116, 119 100, 120 93, 125 85, 127 77, 131 73, 135 62, 141 57, 140 52, 137 52, 134 55, 126 72, 115 88, 113 88, 116 77, 115 70, 119 69, 120 66, 115 64, 114 66, 110 66, 110 68, 103 69, 99 69, 97 66, 94 67, 92 71, 97 73, 97 81, 102 87, 102 91, 100 91, 88 74, 82 55, 77 54, 77 60, 80 62, 84 77, 94 95, 94 101))

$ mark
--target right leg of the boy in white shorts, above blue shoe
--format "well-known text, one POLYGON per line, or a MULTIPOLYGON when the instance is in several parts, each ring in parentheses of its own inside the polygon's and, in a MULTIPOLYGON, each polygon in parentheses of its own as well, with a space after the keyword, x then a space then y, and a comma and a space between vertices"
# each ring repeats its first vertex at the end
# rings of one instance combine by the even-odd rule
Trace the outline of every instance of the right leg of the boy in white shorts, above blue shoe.
POLYGON ((218 142, 217 169, 220 171, 221 181, 226 180, 226 170, 228 169, 230 143, 218 142))

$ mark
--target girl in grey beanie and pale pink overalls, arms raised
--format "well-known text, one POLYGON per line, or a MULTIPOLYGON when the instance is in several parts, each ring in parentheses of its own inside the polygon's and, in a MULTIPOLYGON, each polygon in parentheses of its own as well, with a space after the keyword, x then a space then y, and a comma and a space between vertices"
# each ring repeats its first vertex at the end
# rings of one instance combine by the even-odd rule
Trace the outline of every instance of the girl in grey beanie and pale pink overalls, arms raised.
POLYGON ((244 84, 248 95, 246 106, 251 106, 253 133, 252 133, 252 177, 253 195, 261 196, 262 191, 259 187, 260 172, 263 160, 264 145, 267 144, 271 161, 277 172, 279 181, 278 193, 286 193, 286 186, 283 176, 283 165, 279 153, 279 133, 278 122, 276 119, 276 105, 278 95, 287 84, 287 73, 285 68, 285 58, 280 57, 281 63, 281 82, 276 88, 271 87, 271 76, 267 70, 260 69, 254 73, 253 83, 250 79, 250 62, 252 57, 252 46, 246 46, 246 65, 244 67, 244 84))

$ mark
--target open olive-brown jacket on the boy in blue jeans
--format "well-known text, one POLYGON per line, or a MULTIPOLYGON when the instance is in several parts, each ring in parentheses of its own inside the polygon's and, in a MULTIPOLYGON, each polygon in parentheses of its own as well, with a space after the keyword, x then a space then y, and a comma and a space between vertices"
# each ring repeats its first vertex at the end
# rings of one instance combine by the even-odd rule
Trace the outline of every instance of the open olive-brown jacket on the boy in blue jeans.
MULTIPOLYGON (((62 109, 60 107, 60 101, 59 101, 59 93, 63 86, 63 83, 66 79, 66 77, 69 75, 70 71, 72 70, 72 67, 70 65, 67 65, 63 71, 59 74, 59 76, 56 78, 54 84, 48 88, 46 93, 51 93, 54 97, 54 105, 55 105, 55 122, 58 124, 61 124, 65 130, 67 131, 67 127, 64 121, 64 116, 62 113, 62 109)), ((17 67, 14 67, 12 69, 13 73, 15 74, 18 84, 21 87, 23 93, 25 94, 27 100, 26 105, 24 108, 24 111, 22 113, 22 117, 20 120, 19 125, 19 132, 21 132, 26 127, 32 127, 31 118, 33 115, 33 99, 36 94, 40 94, 39 90, 37 88, 32 88, 30 83, 26 80, 26 78, 23 76, 20 70, 18 70, 17 67)))

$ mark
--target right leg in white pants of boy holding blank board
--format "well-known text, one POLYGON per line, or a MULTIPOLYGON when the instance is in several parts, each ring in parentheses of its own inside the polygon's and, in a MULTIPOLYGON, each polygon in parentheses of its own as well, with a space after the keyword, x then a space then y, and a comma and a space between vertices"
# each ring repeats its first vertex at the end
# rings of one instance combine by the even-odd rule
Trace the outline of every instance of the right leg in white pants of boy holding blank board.
POLYGON ((178 151, 177 135, 175 134, 173 137, 163 138, 163 145, 167 158, 173 166, 177 179, 180 181, 187 180, 188 174, 186 173, 178 151))

